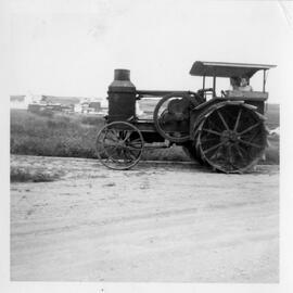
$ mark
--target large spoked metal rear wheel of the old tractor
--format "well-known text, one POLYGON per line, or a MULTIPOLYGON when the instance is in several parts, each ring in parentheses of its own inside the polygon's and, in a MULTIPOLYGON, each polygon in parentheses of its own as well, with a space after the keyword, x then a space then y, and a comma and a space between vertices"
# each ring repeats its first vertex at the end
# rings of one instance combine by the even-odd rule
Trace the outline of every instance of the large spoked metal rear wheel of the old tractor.
POLYGON ((213 105, 195 133, 196 153, 224 173, 245 173, 263 156, 267 145, 264 117, 247 104, 213 105))

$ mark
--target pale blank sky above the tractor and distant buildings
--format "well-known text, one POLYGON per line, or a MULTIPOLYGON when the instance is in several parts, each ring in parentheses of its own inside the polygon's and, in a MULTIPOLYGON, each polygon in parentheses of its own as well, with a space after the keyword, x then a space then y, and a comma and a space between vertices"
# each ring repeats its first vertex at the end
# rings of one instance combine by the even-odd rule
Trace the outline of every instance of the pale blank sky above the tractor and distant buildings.
MULTIPOLYGON (((293 2, 10 1, 10 94, 105 98, 115 68, 138 89, 198 90, 193 62, 276 64, 270 102, 290 92, 293 2)), ((217 82, 227 89, 228 80, 217 82)), ((262 90, 260 76, 252 79, 262 90)))

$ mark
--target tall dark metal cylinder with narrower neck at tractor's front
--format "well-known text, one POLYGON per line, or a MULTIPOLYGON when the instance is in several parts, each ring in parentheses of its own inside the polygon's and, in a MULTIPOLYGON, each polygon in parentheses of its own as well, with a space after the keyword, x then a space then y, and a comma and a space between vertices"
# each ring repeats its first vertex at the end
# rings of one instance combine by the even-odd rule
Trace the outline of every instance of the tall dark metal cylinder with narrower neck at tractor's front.
POLYGON ((130 71, 115 69, 109 86, 109 122, 128 120, 136 115, 136 87, 130 81, 130 71))

